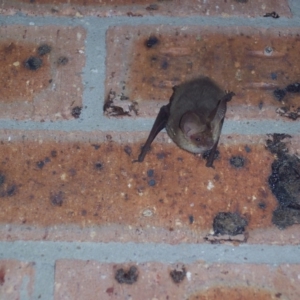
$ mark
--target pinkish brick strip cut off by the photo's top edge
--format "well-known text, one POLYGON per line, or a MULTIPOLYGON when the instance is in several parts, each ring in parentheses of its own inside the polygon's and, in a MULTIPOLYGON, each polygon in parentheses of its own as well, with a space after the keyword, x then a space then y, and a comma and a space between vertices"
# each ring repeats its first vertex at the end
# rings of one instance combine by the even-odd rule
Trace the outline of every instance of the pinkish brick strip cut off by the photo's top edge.
POLYGON ((228 17, 242 15, 246 17, 263 16, 276 11, 281 17, 291 16, 287 0, 226 0, 197 2, 187 0, 151 1, 151 0, 11 0, 4 1, 2 13, 11 14, 22 10, 29 14, 63 14, 82 16, 86 14, 111 16, 163 14, 171 16, 204 15, 228 17), (99 10, 101 7, 101 10, 99 10))

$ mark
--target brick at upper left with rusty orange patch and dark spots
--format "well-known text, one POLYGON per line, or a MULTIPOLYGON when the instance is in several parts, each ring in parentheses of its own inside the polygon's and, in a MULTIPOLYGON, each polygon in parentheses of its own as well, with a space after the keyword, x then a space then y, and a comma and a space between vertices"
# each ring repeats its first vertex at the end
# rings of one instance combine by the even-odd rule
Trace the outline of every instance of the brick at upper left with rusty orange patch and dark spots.
POLYGON ((82 105, 84 40, 80 27, 0 27, 0 118, 73 118, 82 105))

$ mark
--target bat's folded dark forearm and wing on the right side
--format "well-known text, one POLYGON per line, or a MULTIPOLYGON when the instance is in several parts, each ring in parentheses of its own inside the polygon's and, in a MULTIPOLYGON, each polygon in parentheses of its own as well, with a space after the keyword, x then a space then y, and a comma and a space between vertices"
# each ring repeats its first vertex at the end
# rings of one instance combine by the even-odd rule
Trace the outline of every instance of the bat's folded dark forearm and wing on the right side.
MULTIPOLYGON (((235 94, 233 92, 229 92, 227 93, 222 99, 220 99, 216 109, 213 110, 210 118, 212 119, 211 122, 218 122, 220 123, 220 133, 222 131, 222 127, 223 127, 223 123, 224 123, 224 119, 225 119, 225 114, 226 114, 226 109, 227 109, 227 102, 231 100, 231 98, 234 96, 235 94)), ((213 163, 214 163, 214 159, 215 159, 215 153, 218 147, 218 143, 219 143, 219 139, 220 139, 220 134, 218 136, 217 141, 215 142, 215 144, 213 145, 213 147, 211 148, 210 152, 209 152, 209 156, 206 162, 206 166, 213 168, 213 163)))

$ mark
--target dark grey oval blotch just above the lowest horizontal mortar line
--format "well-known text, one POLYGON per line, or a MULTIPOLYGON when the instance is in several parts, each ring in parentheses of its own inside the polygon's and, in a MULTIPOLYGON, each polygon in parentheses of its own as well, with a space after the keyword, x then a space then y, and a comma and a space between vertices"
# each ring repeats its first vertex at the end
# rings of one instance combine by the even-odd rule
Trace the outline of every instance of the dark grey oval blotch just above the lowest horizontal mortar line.
POLYGON ((248 222, 238 213, 220 212, 216 215, 213 222, 215 234, 237 235, 245 231, 248 222))

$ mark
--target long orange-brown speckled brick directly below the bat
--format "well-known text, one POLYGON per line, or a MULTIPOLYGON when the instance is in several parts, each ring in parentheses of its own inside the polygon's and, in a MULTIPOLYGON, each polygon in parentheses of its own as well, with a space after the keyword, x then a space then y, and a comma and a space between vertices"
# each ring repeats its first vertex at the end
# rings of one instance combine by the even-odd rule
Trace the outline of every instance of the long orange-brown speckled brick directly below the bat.
MULTIPOLYGON (((212 169, 203 159, 167 143, 154 143, 143 163, 133 163, 140 143, 124 142, 130 134, 105 134, 53 133, 53 140, 32 133, 37 141, 3 142, 1 223, 115 224, 142 231, 153 226, 203 237, 215 215, 229 211, 249 221, 247 231, 273 226, 277 201, 268 177, 274 157, 263 137, 223 136, 220 158, 212 169), (233 156, 243 157, 244 167, 233 167, 233 156)), ((163 140, 167 141, 165 134, 158 139, 163 140)), ((297 149, 299 139, 292 143, 297 149)), ((270 236, 271 241, 281 239, 270 236)))

